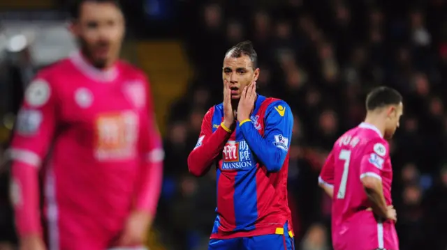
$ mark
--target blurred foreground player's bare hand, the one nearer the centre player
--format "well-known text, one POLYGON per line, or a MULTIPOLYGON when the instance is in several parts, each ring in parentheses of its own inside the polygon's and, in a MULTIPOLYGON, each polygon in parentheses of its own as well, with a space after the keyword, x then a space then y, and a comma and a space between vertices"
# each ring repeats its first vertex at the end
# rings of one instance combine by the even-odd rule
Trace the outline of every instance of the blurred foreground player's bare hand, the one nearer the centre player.
POLYGON ((147 212, 131 212, 119 237, 119 247, 135 247, 145 244, 147 233, 152 226, 152 217, 147 212))

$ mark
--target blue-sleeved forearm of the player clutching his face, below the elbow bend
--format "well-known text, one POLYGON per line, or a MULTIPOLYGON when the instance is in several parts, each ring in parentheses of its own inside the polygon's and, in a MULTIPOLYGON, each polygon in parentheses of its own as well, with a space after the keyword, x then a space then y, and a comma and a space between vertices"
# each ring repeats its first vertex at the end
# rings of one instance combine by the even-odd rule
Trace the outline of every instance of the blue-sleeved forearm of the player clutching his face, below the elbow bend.
POLYGON ((284 164, 287 152, 274 146, 272 141, 263 138, 251 121, 242 122, 240 129, 251 151, 261 160, 269 172, 279 171, 284 164))

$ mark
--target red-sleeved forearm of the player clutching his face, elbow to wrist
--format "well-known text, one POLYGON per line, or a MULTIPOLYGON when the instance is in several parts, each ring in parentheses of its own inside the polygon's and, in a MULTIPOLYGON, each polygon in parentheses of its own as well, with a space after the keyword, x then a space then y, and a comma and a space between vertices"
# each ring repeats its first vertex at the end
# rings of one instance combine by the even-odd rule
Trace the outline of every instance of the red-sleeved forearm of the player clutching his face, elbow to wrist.
POLYGON ((231 132, 222 126, 203 140, 202 145, 195 148, 188 157, 189 172, 196 176, 205 174, 214 159, 221 154, 225 143, 230 139, 231 132))

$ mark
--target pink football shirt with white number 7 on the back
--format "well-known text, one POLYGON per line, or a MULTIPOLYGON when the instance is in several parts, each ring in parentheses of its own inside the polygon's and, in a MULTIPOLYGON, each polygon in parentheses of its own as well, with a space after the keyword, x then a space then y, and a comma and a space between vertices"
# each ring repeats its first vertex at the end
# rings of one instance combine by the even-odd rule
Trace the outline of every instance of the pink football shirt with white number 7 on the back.
POLYGON ((388 142, 368 123, 343 134, 334 144, 318 181, 334 188, 332 240, 335 250, 398 250, 393 221, 376 219, 360 179, 381 180, 386 204, 391 199, 393 169, 388 142))

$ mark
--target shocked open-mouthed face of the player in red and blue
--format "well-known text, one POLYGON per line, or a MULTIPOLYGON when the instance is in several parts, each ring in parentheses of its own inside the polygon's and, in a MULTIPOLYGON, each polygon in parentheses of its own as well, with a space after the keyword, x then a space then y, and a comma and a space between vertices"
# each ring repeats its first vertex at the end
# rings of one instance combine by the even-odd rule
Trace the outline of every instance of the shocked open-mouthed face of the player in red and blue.
POLYGON ((228 81, 231 89, 231 99, 239 100, 245 86, 258 80, 259 69, 253 68, 253 63, 247 55, 238 58, 226 56, 223 59, 222 79, 228 81))

